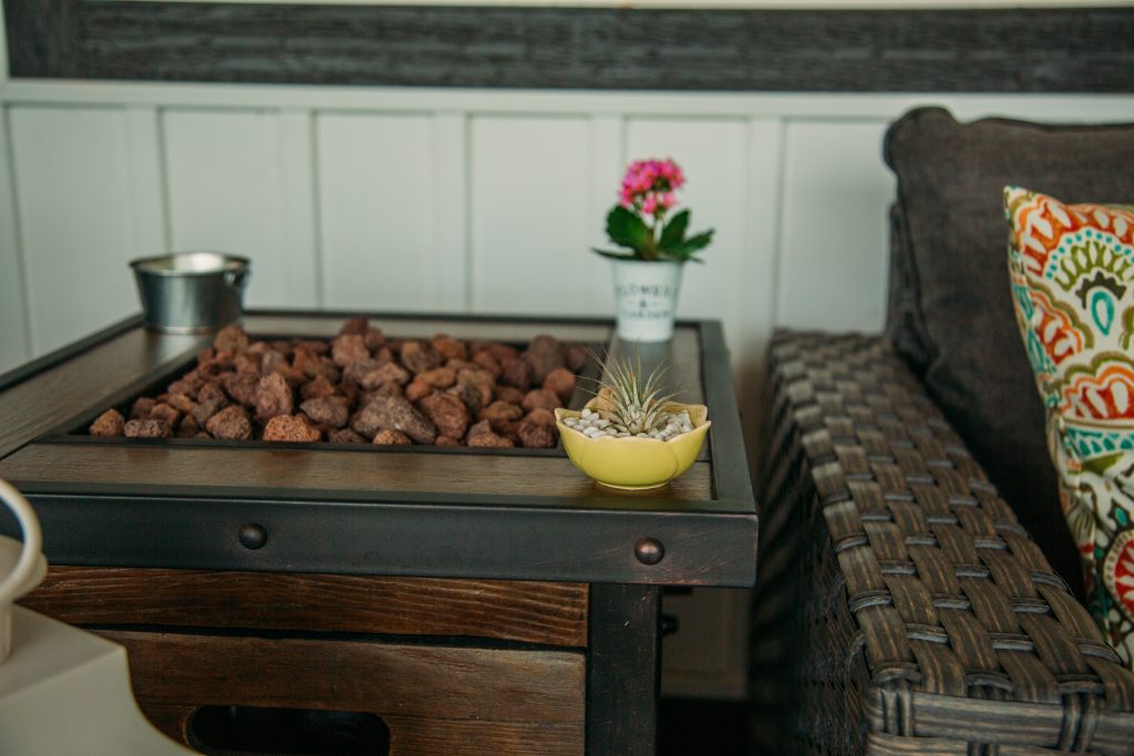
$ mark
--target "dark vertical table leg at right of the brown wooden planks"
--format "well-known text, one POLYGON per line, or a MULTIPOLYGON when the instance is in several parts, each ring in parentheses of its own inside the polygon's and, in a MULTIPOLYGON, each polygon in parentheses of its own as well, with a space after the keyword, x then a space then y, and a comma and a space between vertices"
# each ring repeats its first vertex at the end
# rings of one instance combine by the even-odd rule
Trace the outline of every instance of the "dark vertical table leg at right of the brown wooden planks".
POLYGON ((661 689, 661 588, 591 586, 589 756, 653 756, 661 689))

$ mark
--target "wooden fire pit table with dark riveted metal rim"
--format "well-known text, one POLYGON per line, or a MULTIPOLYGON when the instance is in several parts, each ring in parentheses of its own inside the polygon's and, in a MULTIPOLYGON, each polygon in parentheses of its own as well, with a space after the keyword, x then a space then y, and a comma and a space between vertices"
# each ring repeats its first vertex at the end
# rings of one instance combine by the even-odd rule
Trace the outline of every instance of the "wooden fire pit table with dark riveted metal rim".
MULTIPOLYGON (((243 325, 320 339, 344 317, 243 325)), ((612 339, 598 320, 371 323, 406 339, 612 339)), ((593 483, 561 445, 85 434, 210 342, 132 318, 0 376, 0 477, 35 506, 52 566, 23 603, 127 646, 145 714, 205 753, 654 751, 661 587, 755 578, 718 322, 680 323, 661 347, 684 398, 709 407, 708 443, 684 476, 635 493, 593 483)))

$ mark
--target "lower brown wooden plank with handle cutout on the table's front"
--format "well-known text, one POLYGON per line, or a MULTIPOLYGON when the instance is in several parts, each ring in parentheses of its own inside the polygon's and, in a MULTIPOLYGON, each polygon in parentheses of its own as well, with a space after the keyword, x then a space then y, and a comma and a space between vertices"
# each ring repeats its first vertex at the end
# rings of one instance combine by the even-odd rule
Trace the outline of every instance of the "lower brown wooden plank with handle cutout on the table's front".
POLYGON ((100 635, 126 646, 134 693, 143 710, 164 707, 154 719, 167 728, 184 716, 170 706, 321 708, 378 714, 400 753, 582 753, 579 652, 100 635), (535 750, 522 750, 532 744, 535 750))

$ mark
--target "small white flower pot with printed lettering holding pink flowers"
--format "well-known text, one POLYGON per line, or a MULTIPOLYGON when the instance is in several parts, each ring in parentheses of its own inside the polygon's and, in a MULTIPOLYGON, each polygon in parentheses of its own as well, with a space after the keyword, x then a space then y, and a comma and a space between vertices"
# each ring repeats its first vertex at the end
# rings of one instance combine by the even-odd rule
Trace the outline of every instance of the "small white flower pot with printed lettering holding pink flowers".
POLYGON ((668 341, 674 335, 683 263, 612 260, 618 338, 668 341))

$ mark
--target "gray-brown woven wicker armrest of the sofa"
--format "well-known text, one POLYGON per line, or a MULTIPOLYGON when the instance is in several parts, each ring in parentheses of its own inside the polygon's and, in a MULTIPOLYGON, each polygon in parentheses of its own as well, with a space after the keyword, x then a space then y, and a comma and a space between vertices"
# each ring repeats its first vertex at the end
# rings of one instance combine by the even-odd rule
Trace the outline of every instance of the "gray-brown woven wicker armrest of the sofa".
POLYGON ((1134 754, 1134 674, 886 340, 771 362, 761 753, 1134 754))

